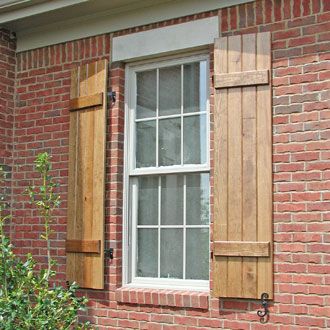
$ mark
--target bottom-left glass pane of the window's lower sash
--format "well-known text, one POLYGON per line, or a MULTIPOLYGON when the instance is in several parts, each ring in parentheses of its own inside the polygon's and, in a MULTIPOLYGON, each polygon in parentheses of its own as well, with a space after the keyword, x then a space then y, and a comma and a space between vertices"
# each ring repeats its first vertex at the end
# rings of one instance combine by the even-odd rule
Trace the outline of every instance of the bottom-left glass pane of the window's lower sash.
POLYGON ((158 230, 138 229, 136 276, 158 276, 158 230))

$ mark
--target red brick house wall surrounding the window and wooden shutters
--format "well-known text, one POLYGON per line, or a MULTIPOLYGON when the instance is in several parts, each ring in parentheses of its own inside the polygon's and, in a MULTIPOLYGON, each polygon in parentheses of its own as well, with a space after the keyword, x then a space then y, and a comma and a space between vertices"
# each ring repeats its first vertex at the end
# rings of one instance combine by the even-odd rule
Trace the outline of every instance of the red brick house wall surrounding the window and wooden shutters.
MULTIPOLYGON (((275 298, 269 323, 259 323, 258 301, 219 300, 209 298, 208 293, 120 289, 125 66, 117 62, 110 63, 109 72, 108 86, 117 92, 117 101, 109 105, 107 117, 105 206, 106 246, 115 249, 114 259, 106 259, 105 290, 82 290, 90 299, 82 318, 99 329, 330 327, 327 0, 259 0, 18 53, 12 155, 13 243, 18 253, 32 252, 41 263, 45 262, 46 247, 39 238, 42 226, 22 193, 37 180, 34 157, 48 151, 53 157, 53 175, 61 183, 62 198, 53 225, 52 254, 58 261, 58 280, 65 280, 70 69, 96 59, 111 59, 111 38, 116 35, 215 15, 219 15, 222 35, 272 32, 275 298)), ((213 47, 208 51, 212 68, 213 47)), ((212 122, 212 86, 210 93, 212 122)), ((211 131, 211 152, 212 137, 211 131)))

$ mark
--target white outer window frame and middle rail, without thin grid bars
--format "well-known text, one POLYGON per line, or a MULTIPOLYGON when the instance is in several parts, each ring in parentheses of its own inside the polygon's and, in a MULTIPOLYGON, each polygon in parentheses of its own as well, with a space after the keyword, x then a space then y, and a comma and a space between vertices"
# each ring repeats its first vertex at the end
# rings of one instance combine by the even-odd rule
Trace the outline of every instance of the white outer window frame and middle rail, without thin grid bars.
MULTIPOLYGON (((210 172, 210 102, 209 102, 209 56, 208 54, 196 54, 180 56, 179 58, 163 58, 161 60, 146 61, 140 63, 131 63, 126 65, 125 69, 125 129, 124 129, 124 187, 123 187, 123 268, 122 268, 122 280, 125 287, 136 288, 150 288, 150 289, 177 289, 177 290, 191 290, 191 291, 208 291, 209 280, 181 280, 181 279, 166 279, 166 278, 141 278, 132 277, 134 269, 130 267, 130 260, 135 258, 135 252, 133 256, 130 256, 130 244, 136 243, 135 231, 132 231, 132 237, 130 238, 130 176, 134 175, 150 175, 150 174, 170 174, 170 173, 194 173, 194 172, 210 172), (134 169, 130 154, 134 154, 134 117, 130 114, 133 110, 136 94, 136 82, 133 80, 134 75, 138 71, 144 71, 153 68, 161 68, 169 65, 180 65, 193 61, 205 60, 207 62, 206 70, 206 82, 207 82, 207 99, 206 99, 206 126, 207 126, 207 158, 206 163, 202 165, 175 165, 170 167, 149 167, 149 168, 137 168, 134 169), (133 86, 133 88, 131 88, 133 86)), ((198 114, 198 113, 194 113, 198 114)), ((168 116, 173 117, 173 116, 168 116)), ((164 116, 165 118, 165 116, 164 116)), ((150 118, 151 119, 151 118, 150 118)), ((133 186, 134 189, 134 186, 133 186)), ((134 206, 133 206, 134 207, 134 206)), ((134 212, 134 211, 133 211, 134 212)), ((194 226, 205 227, 201 226, 194 226)), ((136 249, 135 249, 136 251, 136 249)), ((134 268, 134 263, 133 263, 134 268)))

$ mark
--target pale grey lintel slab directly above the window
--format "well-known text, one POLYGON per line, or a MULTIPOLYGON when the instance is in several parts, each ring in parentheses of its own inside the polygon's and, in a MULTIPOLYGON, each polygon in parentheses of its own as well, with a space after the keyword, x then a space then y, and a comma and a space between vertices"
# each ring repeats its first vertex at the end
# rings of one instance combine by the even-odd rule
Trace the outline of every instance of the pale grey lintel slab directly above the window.
POLYGON ((218 36, 218 16, 118 36, 112 39, 112 61, 201 47, 218 36))

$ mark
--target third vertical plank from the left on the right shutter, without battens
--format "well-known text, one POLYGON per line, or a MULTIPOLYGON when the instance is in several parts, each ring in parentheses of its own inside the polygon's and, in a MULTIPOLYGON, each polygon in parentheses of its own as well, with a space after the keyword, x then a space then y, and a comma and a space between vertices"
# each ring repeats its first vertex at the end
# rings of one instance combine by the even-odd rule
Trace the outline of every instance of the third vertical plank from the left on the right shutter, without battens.
MULTIPOLYGON (((242 71, 256 68, 256 35, 242 36, 242 71)), ((242 88, 243 116, 243 241, 257 240, 256 87, 242 88)), ((243 258, 242 297, 257 295, 257 258, 243 258)))

